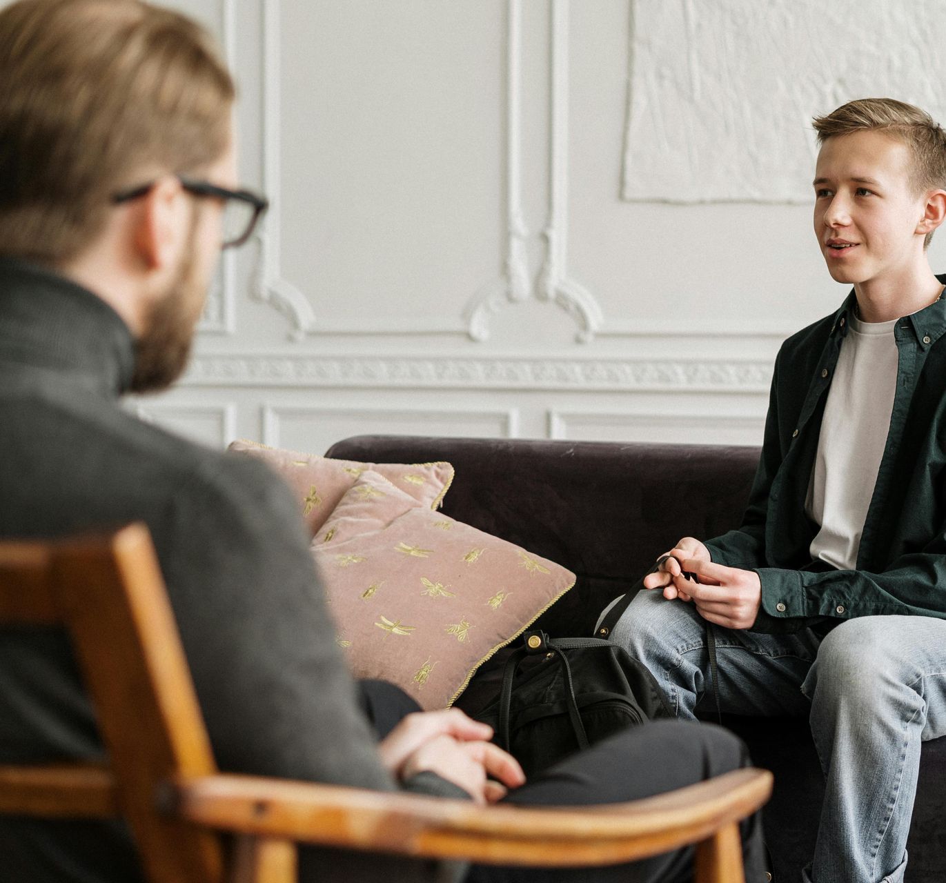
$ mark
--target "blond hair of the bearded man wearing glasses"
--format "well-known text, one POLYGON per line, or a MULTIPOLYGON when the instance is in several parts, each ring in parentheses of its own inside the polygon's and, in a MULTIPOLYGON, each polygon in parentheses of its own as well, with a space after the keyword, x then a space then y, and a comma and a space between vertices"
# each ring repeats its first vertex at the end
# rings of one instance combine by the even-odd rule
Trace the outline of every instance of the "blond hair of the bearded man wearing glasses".
POLYGON ((233 80, 195 22, 140 0, 0 11, 0 255, 61 264, 112 197, 229 147, 233 80))

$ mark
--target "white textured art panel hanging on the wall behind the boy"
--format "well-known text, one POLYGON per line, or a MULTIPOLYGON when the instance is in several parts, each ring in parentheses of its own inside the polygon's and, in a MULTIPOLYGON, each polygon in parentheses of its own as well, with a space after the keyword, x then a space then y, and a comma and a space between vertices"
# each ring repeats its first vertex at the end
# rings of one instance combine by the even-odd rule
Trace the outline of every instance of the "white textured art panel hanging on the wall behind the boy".
POLYGON ((622 196, 807 202, 811 120, 888 96, 946 120, 942 0, 631 0, 622 196))

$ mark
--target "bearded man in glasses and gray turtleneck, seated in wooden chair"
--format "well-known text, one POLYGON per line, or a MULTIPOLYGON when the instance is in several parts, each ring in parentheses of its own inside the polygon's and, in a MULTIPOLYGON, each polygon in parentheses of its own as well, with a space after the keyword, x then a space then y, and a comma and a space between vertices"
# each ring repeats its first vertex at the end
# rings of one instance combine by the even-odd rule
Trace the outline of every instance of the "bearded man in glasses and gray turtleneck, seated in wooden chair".
MULTIPOLYGON (((745 765, 725 732, 663 721, 523 785, 488 727, 352 683, 289 493, 259 464, 119 406, 182 371, 221 243, 265 200, 236 188, 234 88, 201 29, 138 0, 0 11, 0 536, 147 523, 219 766, 481 803, 622 801, 745 765), (380 741, 362 709, 367 711, 380 741), (399 722, 398 722, 399 721, 399 722), (388 732, 390 731, 390 732, 388 732), (652 770, 675 744, 672 770, 652 770), (619 770, 616 772, 616 770, 619 770)), ((0 762, 95 757, 60 632, 0 633, 0 762)), ((758 823, 745 824, 758 879, 758 823)), ((596 878, 684 879, 690 851, 596 878)), ((429 863, 306 849, 303 880, 431 879, 429 863)), ((552 874, 574 878, 582 871, 552 874)), ((529 869, 473 868, 496 881, 529 869)), ((128 831, 0 818, 9 883, 141 878, 128 831)))

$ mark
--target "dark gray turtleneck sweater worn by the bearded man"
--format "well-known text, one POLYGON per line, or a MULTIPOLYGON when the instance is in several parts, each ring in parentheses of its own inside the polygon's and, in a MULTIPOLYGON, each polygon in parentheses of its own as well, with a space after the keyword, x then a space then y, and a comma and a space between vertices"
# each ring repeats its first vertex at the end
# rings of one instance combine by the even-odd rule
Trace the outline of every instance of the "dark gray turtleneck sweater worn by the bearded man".
MULTIPOLYGON (((221 770, 393 789, 334 641, 288 491, 238 459, 119 407, 134 342, 96 295, 0 259, 0 537, 144 521, 157 548, 221 770)), ((61 632, 0 632, 0 762, 101 754, 61 632)), ((458 796, 427 775, 417 790, 458 796)), ((334 857, 325 878, 429 868, 334 857)), ((330 860, 310 851, 307 868, 330 860)), ((324 867, 322 868, 324 872, 324 867)), ((395 872, 394 875, 392 872, 395 872)), ((0 818, 8 883, 140 878, 120 825, 0 818)))

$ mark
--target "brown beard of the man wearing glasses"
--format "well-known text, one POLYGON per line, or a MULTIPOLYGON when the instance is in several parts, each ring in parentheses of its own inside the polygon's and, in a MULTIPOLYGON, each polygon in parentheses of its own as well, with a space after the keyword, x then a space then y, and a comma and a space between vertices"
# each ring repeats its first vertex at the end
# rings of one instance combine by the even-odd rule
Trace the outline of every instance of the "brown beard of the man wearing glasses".
POLYGON ((197 248, 190 248, 165 292, 152 304, 145 329, 135 341, 132 392, 166 390, 187 367, 204 292, 195 278, 197 248))

